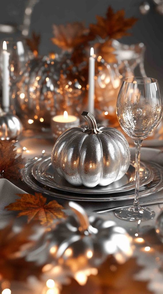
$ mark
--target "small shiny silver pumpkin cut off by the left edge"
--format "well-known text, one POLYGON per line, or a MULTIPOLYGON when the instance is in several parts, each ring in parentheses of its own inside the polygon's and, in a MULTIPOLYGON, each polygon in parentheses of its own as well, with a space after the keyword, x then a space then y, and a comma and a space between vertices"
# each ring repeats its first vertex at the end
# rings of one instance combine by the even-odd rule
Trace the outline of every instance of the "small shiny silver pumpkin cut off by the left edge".
POLYGON ((22 123, 16 115, 0 110, 0 140, 16 139, 22 131, 22 123))

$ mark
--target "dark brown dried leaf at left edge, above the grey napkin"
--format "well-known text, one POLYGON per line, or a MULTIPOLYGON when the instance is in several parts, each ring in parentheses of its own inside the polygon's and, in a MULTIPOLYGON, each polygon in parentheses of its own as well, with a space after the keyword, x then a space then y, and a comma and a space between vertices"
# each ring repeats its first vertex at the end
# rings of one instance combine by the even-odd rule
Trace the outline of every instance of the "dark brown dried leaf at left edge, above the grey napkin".
POLYGON ((16 149, 10 142, 0 142, 0 175, 8 180, 18 180, 20 169, 25 166, 26 159, 22 154, 16 157, 16 149))

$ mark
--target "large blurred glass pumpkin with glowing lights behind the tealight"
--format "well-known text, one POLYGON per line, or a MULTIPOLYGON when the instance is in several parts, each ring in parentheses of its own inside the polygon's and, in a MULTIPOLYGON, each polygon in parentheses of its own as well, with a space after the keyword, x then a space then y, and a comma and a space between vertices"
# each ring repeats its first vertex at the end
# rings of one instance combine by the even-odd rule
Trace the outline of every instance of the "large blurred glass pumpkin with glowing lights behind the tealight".
POLYGON ((50 126, 51 117, 64 110, 79 116, 84 97, 82 78, 65 56, 38 57, 26 64, 17 83, 17 113, 26 127, 50 126))

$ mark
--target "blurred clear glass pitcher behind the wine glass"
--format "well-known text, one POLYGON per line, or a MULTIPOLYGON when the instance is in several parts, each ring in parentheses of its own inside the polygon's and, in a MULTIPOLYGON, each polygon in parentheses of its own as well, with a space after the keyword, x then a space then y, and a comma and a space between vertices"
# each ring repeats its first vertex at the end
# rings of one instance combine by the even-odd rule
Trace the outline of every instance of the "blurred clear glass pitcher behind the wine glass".
POLYGON ((111 46, 115 49, 117 63, 107 64, 102 56, 98 56, 96 59, 95 108, 98 109, 99 119, 106 119, 109 114, 112 121, 116 117, 116 101, 122 79, 133 77, 137 67, 139 67, 140 76, 146 77, 146 73, 143 43, 126 45, 112 40, 111 46))

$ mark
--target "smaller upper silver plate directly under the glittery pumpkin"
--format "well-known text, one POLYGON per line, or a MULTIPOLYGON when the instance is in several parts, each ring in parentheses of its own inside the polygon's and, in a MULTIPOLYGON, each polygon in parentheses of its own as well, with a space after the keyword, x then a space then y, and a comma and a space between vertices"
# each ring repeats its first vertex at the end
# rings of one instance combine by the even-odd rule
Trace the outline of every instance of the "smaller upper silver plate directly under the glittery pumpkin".
MULTIPOLYGON (((115 181, 108 186, 96 186, 95 188, 87 188, 85 186, 73 186, 68 183, 63 177, 58 176, 54 172, 51 158, 49 156, 39 158, 33 163, 33 177, 43 185, 61 191, 82 194, 108 194, 130 191, 135 188, 135 167, 131 161, 128 171, 118 181, 115 181)), ((150 183, 154 178, 152 168, 146 163, 140 164, 140 187, 150 183)))

